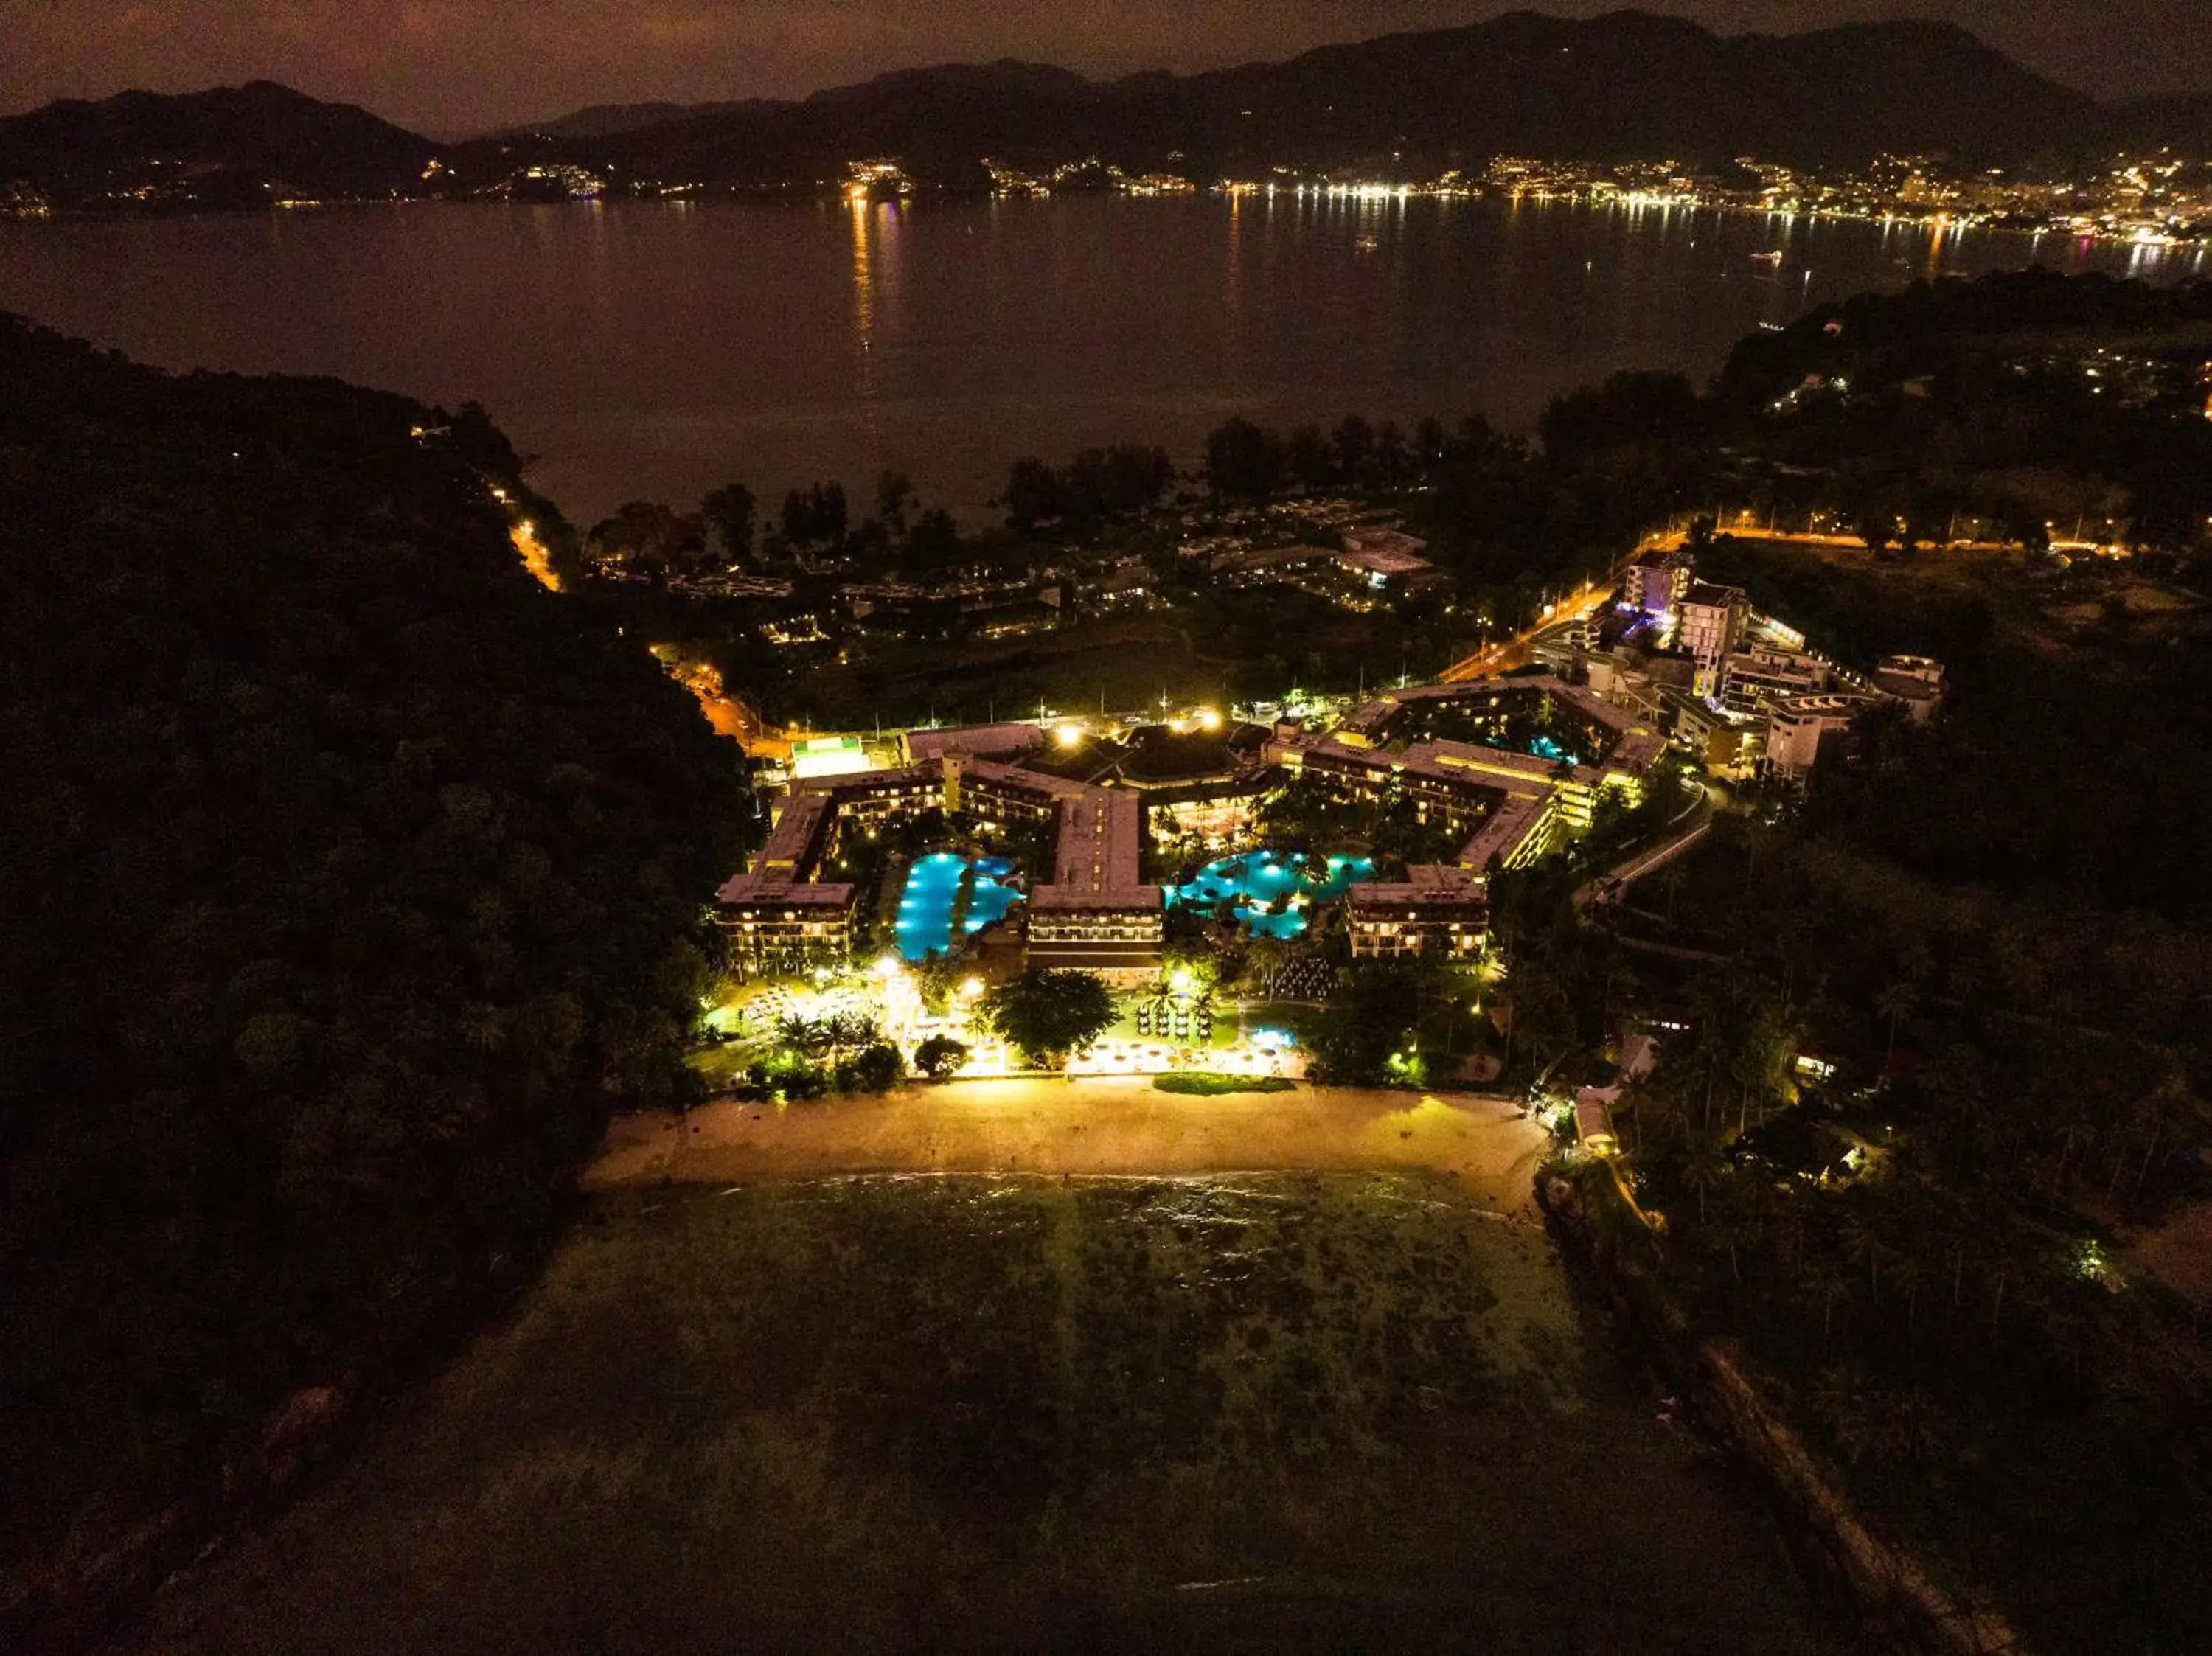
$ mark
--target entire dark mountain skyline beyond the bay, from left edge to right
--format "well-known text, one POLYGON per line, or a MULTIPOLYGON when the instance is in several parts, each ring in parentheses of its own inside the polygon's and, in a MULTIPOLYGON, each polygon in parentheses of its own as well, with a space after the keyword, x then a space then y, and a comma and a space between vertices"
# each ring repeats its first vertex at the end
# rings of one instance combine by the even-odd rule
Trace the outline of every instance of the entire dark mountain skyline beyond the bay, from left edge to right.
POLYGON ((2205 130, 2205 99, 2110 111, 1951 24, 1723 38, 1639 11, 1511 13, 1201 75, 1093 82, 1011 60, 947 64, 796 102, 602 104, 449 146, 270 84, 126 93, 0 122, 0 184, 22 179, 62 203, 148 186, 159 197, 186 175, 206 181, 184 186, 197 203, 265 199, 272 184, 467 195, 540 164, 608 172, 617 188, 814 188, 872 155, 942 188, 980 186, 984 157, 1046 168, 1093 155, 1194 181, 1276 166, 1433 177, 1500 153, 1805 166, 1940 153, 2028 168, 2205 130), (425 179, 431 157, 440 168, 425 179))

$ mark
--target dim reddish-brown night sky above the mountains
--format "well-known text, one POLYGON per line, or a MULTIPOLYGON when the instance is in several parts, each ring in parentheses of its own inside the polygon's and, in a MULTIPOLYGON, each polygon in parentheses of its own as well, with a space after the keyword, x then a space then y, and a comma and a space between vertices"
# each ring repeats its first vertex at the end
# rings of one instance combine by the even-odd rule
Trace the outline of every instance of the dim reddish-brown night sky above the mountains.
MULTIPOLYGON (((1285 57, 1473 22, 1486 0, 0 0, 0 108, 281 80, 458 137, 582 104, 796 97, 885 69, 1031 57, 1091 75, 1285 57)), ((1573 15, 1606 0, 1551 0, 1573 15)), ((1723 33, 1962 22, 2099 97, 2212 91, 2208 0, 1672 0, 1723 33)))

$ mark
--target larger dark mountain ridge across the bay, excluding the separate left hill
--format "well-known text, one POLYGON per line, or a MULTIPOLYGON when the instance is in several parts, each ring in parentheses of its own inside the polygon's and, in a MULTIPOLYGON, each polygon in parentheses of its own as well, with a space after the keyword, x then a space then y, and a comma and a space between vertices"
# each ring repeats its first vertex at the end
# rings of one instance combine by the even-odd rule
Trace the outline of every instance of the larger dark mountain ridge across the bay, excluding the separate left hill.
POLYGON ((1097 153, 1190 177, 1270 166, 1433 175, 1495 153, 1854 164, 1882 150, 1989 164, 2068 155, 2106 111, 1949 24, 1719 38, 1646 13, 1513 13, 1323 46, 1285 64, 1102 84, 1000 62, 883 75, 799 104, 686 111, 608 135, 602 159, 659 177, 770 184, 896 153, 958 181, 980 155, 1097 153))

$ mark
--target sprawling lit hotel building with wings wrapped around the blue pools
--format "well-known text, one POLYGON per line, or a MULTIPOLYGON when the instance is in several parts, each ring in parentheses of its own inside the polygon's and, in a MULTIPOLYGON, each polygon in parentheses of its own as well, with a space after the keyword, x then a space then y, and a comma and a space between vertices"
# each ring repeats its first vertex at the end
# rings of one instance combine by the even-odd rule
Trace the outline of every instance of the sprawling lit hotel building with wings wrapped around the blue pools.
POLYGON ((1486 937, 1491 873, 1528 867, 1586 831, 1601 798, 1639 803, 1646 774, 1666 752, 1644 719, 1555 677, 1394 690, 1321 734, 1290 725, 1272 736, 1243 732, 1252 747, 1239 747, 1232 732, 1225 747, 1234 765, 1199 778, 1201 798, 1159 787, 1164 776, 1121 776, 1119 765, 1055 774, 1046 767, 1086 758, 1055 752, 1037 725, 909 732, 905 765, 796 780, 754 864, 721 887, 732 957, 776 966, 849 951, 860 893, 823 878, 834 867, 836 836, 880 834, 945 811, 987 827, 1053 827, 1051 878, 1026 893, 1031 964, 1146 979, 1159 971, 1166 935, 1164 891, 1141 871, 1148 809, 1159 811, 1164 831, 1179 831, 1194 809, 1250 811, 1296 778, 1316 780, 1338 798, 1411 800, 1422 822, 1460 845, 1451 862, 1354 884, 1345 893, 1352 953, 1471 957, 1486 937), (1573 752, 1548 756, 1504 745, 1500 732, 1531 712, 1542 714, 1546 730, 1562 732, 1573 752), (1420 727, 1436 719, 1484 741, 1420 738, 1420 727), (1084 776, 1106 776, 1108 785, 1084 776))

